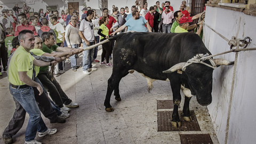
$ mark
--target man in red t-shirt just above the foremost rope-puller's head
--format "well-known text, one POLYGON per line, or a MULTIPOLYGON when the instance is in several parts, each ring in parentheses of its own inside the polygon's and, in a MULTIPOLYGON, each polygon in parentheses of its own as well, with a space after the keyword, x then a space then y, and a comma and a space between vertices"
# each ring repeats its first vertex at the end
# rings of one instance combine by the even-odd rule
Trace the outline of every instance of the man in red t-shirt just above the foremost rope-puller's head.
POLYGON ((20 13, 18 15, 18 19, 19 19, 19 22, 21 23, 21 25, 17 26, 17 29, 14 33, 14 36, 18 36, 20 31, 24 30, 24 29, 28 29, 28 30, 33 31, 35 36, 38 35, 36 33, 36 28, 32 25, 29 25, 29 23, 27 21, 27 15, 25 13, 20 13))

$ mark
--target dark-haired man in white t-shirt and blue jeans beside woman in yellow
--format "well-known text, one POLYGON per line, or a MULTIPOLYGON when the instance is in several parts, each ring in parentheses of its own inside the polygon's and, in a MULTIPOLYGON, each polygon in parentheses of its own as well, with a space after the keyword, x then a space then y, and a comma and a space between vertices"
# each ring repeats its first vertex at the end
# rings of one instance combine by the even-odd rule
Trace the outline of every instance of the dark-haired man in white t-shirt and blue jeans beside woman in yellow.
MULTIPOLYGON (((96 43, 94 37, 94 29, 93 29, 93 10, 87 11, 87 17, 81 21, 79 27, 79 36, 83 41, 83 49, 90 45, 94 45, 96 43)), ((90 71, 97 70, 97 68, 92 68, 94 48, 90 50, 84 51, 83 55, 83 74, 90 75, 90 71)))

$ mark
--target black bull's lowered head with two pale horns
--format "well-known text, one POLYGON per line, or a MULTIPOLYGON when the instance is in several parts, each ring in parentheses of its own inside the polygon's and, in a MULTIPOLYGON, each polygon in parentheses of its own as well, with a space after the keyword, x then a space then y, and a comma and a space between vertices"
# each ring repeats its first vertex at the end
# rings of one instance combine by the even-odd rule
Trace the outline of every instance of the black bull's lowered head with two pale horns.
MULTIPOLYGON (((234 64, 234 61, 231 62, 224 59, 213 59, 213 61, 216 66, 234 64)), ((204 62, 211 64, 209 60, 204 62)), ((172 73, 181 70, 185 64, 186 62, 178 63, 170 69, 163 71, 163 73, 172 73)), ((202 106, 210 105, 212 102, 212 72, 213 68, 202 65, 201 63, 193 63, 186 67, 186 75, 191 94, 196 95, 198 103, 202 106)))

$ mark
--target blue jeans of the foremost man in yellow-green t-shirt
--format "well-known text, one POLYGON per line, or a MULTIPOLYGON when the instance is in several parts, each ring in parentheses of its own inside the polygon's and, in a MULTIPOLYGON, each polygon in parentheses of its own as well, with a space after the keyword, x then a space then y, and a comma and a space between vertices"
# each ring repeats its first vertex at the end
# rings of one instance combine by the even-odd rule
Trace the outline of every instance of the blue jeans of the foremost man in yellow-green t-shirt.
POLYGON ((17 100, 29 114, 28 125, 25 133, 25 141, 34 140, 36 137, 36 131, 45 132, 47 127, 37 106, 33 88, 29 86, 24 89, 19 89, 19 87, 15 89, 10 85, 9 89, 13 98, 17 100))

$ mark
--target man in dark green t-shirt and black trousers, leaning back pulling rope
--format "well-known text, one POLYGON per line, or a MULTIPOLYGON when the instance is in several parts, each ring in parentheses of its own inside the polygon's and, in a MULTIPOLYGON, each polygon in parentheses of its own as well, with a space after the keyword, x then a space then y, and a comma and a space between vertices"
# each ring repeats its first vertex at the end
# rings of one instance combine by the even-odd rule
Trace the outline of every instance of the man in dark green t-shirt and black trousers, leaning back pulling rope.
MULTIPOLYGON (((44 52, 43 55, 49 57, 63 57, 65 55, 73 55, 76 51, 81 49, 73 49, 71 47, 60 47, 55 45, 55 39, 53 33, 44 32, 42 34, 43 46, 42 51, 44 52), (55 52, 60 51, 60 52, 55 52)), ((37 54, 37 53, 35 53, 37 54)), ((61 89, 60 84, 56 81, 55 78, 52 80, 52 74, 49 71, 49 67, 40 67, 39 73, 37 78, 42 82, 44 87, 50 93, 50 97, 55 102, 55 105, 60 107, 61 111, 70 111, 68 107, 79 107, 79 105, 73 102, 71 99, 68 98, 67 94, 63 92, 61 89), (65 106, 63 106, 63 104, 65 106)))

